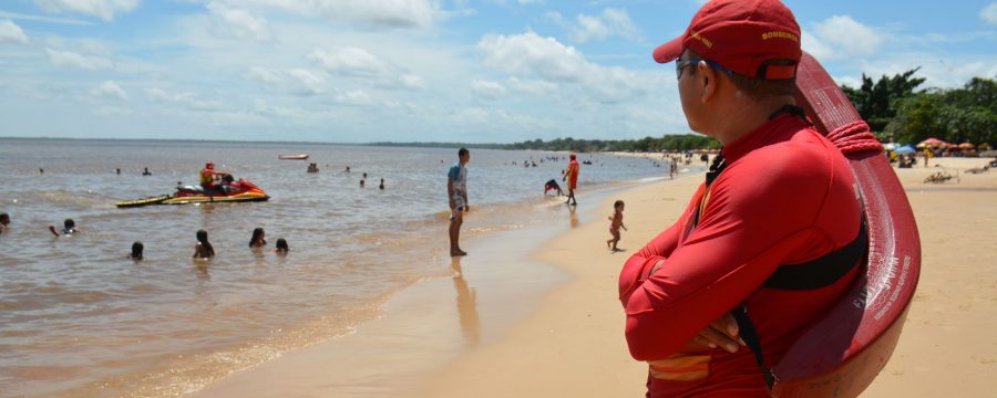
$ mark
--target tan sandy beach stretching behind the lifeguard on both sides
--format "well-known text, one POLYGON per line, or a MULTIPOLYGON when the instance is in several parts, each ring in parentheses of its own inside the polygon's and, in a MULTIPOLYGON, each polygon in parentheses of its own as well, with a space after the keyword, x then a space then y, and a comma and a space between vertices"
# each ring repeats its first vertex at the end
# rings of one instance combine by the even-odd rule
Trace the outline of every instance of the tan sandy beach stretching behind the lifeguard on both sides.
MULTIPOLYGON (((958 171, 945 184, 923 182, 942 167, 897 170, 921 232, 921 282, 893 358, 863 396, 975 397, 997 388, 997 171, 962 172, 986 161, 935 159, 933 166, 958 171)), ((515 238, 472 247, 477 252, 463 269, 452 264, 452 281, 423 283, 393 298, 387 316, 366 326, 373 329, 367 337, 290 353, 198 396, 643 396, 646 366, 627 353, 617 273, 676 219, 700 180, 647 184, 598 205, 583 193, 585 222, 526 258, 502 249, 517 244, 515 238), (606 217, 616 199, 627 203, 629 230, 619 243, 626 250, 610 253, 606 217), (513 272, 498 271, 508 268, 513 272), (538 274, 527 276, 532 272, 538 274), (520 292, 541 298, 508 298, 520 292)))

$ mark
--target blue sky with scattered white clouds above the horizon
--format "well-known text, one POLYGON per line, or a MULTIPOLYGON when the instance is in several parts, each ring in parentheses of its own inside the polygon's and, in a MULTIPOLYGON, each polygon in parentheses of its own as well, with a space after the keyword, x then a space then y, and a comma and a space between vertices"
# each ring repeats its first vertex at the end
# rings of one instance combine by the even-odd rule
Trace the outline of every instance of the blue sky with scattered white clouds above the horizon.
MULTIPOLYGON (((6 0, 0 136, 469 142, 688 133, 650 52, 702 0, 6 0)), ((997 77, 995 1, 785 0, 839 83, 997 77)))

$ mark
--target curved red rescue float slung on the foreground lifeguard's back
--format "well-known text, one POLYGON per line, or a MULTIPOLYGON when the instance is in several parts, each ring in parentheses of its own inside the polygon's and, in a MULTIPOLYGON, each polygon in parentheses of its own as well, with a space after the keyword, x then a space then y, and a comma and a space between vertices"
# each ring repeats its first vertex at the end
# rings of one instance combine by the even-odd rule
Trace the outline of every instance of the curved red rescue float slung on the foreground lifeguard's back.
POLYGON ((921 274, 921 238, 904 188, 882 149, 847 148, 852 134, 842 133, 868 133, 868 126, 806 53, 796 75, 796 103, 818 130, 843 147, 862 192, 870 248, 851 291, 774 366, 777 383, 771 392, 774 397, 856 397, 896 347, 921 274))

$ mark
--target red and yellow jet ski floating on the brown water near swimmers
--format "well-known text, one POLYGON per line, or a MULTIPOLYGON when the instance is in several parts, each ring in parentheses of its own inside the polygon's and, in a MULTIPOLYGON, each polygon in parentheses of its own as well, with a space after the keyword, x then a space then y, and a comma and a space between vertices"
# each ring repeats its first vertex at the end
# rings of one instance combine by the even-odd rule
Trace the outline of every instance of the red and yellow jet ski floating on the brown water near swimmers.
POLYGON ((173 195, 127 200, 114 203, 119 208, 142 207, 148 205, 188 205, 188 203, 219 203, 265 201, 270 199, 267 192, 255 184, 239 178, 234 180, 232 176, 225 176, 218 189, 205 190, 202 186, 177 186, 173 195))

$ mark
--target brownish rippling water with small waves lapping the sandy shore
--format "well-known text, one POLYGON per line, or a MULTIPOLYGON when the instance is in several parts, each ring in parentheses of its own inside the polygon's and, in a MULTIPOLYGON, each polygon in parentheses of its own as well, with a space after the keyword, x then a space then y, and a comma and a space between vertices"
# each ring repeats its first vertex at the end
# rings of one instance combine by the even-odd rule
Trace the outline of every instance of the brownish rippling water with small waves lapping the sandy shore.
MULTIPOLYGON (((304 181, 320 189, 343 190, 342 187, 336 188, 336 182, 330 187, 329 182, 322 181, 332 179, 343 180, 349 188, 357 189, 356 180, 360 178, 362 170, 377 170, 371 172, 371 178, 374 178, 376 172, 387 172, 384 169, 389 166, 370 166, 373 161, 370 159, 339 160, 353 164, 353 174, 330 170, 331 167, 325 164, 323 171, 327 174, 322 175, 322 178, 316 178, 315 175, 305 176, 302 170, 291 167, 297 166, 296 163, 270 159, 267 165, 253 166, 245 160, 236 159, 224 165, 240 170, 241 174, 253 172, 251 176, 259 175, 259 171, 247 171, 250 168, 259 169, 264 166, 269 170, 263 174, 266 178, 256 179, 268 181, 266 185, 268 191, 278 192, 274 195, 274 199, 265 203, 235 206, 205 205, 122 210, 107 205, 113 202, 112 199, 120 199, 121 191, 109 193, 101 189, 89 190, 86 187, 117 185, 117 188, 124 188, 122 191, 129 195, 145 195, 143 190, 162 189, 156 188, 162 185, 160 180, 188 178, 189 176, 185 176, 186 167, 168 168, 154 155, 146 155, 144 158, 153 164, 151 169, 155 172, 155 178, 141 177, 138 180, 129 180, 117 179, 120 178, 117 176, 106 177, 104 169, 114 169, 107 168, 107 164, 113 164, 113 159, 111 161, 99 159, 92 163, 88 159, 73 159, 73 156, 85 157, 85 153, 90 149, 106 150, 96 145, 88 148, 88 144, 92 143, 71 143, 66 146, 66 150, 83 154, 62 157, 60 161, 64 165, 49 166, 48 174, 43 178, 31 177, 30 174, 34 170, 23 166, 24 163, 40 161, 38 156, 28 160, 20 159, 21 164, 17 164, 18 156, 6 157, 6 161, 14 164, 14 166, 3 165, 14 171, 6 179, 9 179, 8 185, 16 189, 0 195, 0 201, 4 203, 2 210, 13 216, 13 228, 0 239, 0 247, 11 254, 0 259, 2 265, 0 272, 4 275, 0 283, 3 283, 8 294, 0 296, 0 305, 6 308, 2 314, 6 322, 0 327, 2 339, 0 343, 12 348, 7 354, 0 355, 0 364, 3 365, 0 366, 2 397, 189 395, 205 386, 214 385, 229 374, 238 375, 241 373, 239 370, 265 366, 301 347, 345 339, 345 336, 362 333, 358 331, 363 331, 366 325, 377 320, 392 318, 386 315, 391 314, 391 308, 395 306, 390 303, 404 301, 405 296, 413 294, 419 295, 405 293, 409 290, 419 291, 424 289, 423 285, 434 283, 453 284, 454 286, 448 287, 451 294, 455 289, 459 294, 469 295, 479 290, 471 284, 471 275, 477 272, 474 271, 476 266, 466 266, 467 270, 462 274, 467 276, 463 282, 454 280, 453 275, 458 274, 455 270, 460 269, 460 264, 452 264, 450 258, 440 251, 440 247, 445 244, 445 213, 442 211, 433 213, 429 220, 401 219, 401 229, 392 228, 390 223, 384 227, 373 226, 370 231, 353 228, 351 231, 354 232, 346 237, 323 241, 329 231, 341 228, 323 229, 321 226, 325 218, 333 217, 341 220, 346 217, 346 221, 339 221, 339 226, 347 223, 349 227, 351 220, 369 217, 364 212, 371 210, 363 210, 364 207, 380 209, 388 206, 388 211, 392 211, 391 207, 404 203, 405 197, 418 193, 403 192, 413 189, 412 184, 422 184, 423 180, 432 178, 439 181, 440 178, 432 175, 433 169, 449 166, 449 157, 444 155, 451 155, 450 153, 455 150, 431 149, 411 155, 411 150, 405 148, 371 149, 373 154, 388 151, 388 156, 393 159, 429 160, 426 163, 438 166, 417 166, 429 169, 430 175, 425 178, 421 175, 409 176, 409 181, 401 177, 390 178, 388 189, 371 191, 378 196, 364 199, 366 202, 347 202, 348 207, 358 211, 356 214, 349 214, 318 207, 318 203, 329 200, 341 207, 343 199, 323 199, 317 196, 288 198, 287 188, 298 187, 304 181), (399 156, 404 151, 410 153, 409 158, 404 155, 399 156), (436 157, 440 159, 434 159, 436 157), (74 161, 83 165, 72 167, 74 161), (367 168, 357 166, 364 163, 368 164, 367 168), (301 172, 304 177, 282 177, 288 172, 301 172), (274 180, 278 182, 276 188, 274 180), (122 185, 119 181, 138 182, 122 185), (138 186, 140 182, 144 184, 138 186), (136 186, 133 187, 132 184, 136 186), (34 231, 32 226, 51 222, 45 218, 49 213, 58 214, 52 217, 64 217, 62 216, 64 213, 82 214, 76 220, 78 224, 84 226, 84 232, 78 237, 55 239, 34 231), (312 223, 317 223, 318 227, 305 222, 294 223, 302 216, 314 218, 317 222, 312 223), (275 220, 284 221, 275 222, 275 220), (188 227, 177 228, 177 223, 188 227), (265 252, 247 250, 244 240, 248 239, 248 232, 255 224, 266 227, 269 240, 276 240, 285 233, 290 234, 291 253, 288 256, 275 256, 267 254, 268 250, 265 252), (207 229, 212 231, 212 241, 216 250, 220 250, 220 254, 212 262, 202 264, 204 265, 202 268, 195 266, 201 263, 192 262, 188 258, 191 247, 187 242, 193 241, 193 230, 197 227, 204 228, 203 226, 209 227, 207 229), (121 230, 115 230, 116 228, 121 230), (177 240, 178 233, 184 235, 189 233, 191 237, 177 240), (125 242, 122 248, 124 253, 126 247, 131 244, 131 237, 143 234, 151 234, 152 238, 143 238, 146 243, 146 256, 142 262, 132 262, 126 260, 124 254, 119 255, 121 253, 114 250, 110 252, 106 250, 115 242, 125 242), (163 237, 169 238, 171 241, 165 248, 163 237), (22 241, 29 244, 17 250, 16 245, 11 245, 22 241), (243 248, 237 250, 233 247, 243 248), (95 250, 103 253, 97 256, 88 254, 95 250), (51 253, 47 254, 48 252, 51 253), (335 265, 332 271, 329 271, 330 265, 335 265), (122 270, 125 274, 120 275, 122 270), (32 282, 32 277, 38 279, 39 275, 48 276, 47 280, 29 283, 32 282), (379 284, 384 287, 378 287, 379 284), (364 287, 368 285, 374 287, 364 287), (341 292, 352 292, 352 295, 341 292), (402 298, 394 298, 397 295, 402 298), (21 303, 34 304, 32 307, 23 307, 21 303), (54 314, 55 317, 45 315, 65 307, 70 311, 54 314), (106 332, 94 332, 93 336, 83 333, 89 329, 106 332), (195 345, 177 346, 171 342, 191 342, 195 345)), ((114 149, 113 153, 135 151, 141 144, 126 143, 123 144, 123 148, 114 149)), ((21 145, 33 144, 28 142, 21 145)), ((52 143, 42 145, 59 148, 52 143)), ((216 158, 228 157, 226 151, 250 153, 251 155, 245 157, 249 158, 259 155, 258 153, 282 150, 268 145, 223 148, 220 144, 217 148, 208 149, 207 153, 222 153, 216 154, 216 158)), ((141 150, 155 149, 138 149, 141 150)), ((30 156, 24 154, 31 151, 21 150, 21 154, 16 155, 27 159, 30 156)), ((319 153, 314 149, 311 151, 314 158, 315 154, 319 153)), ((137 155, 136 157, 143 157, 141 153, 137 155)), ((535 189, 535 193, 526 193, 535 195, 532 199, 516 199, 517 197, 513 196, 513 201, 503 202, 482 195, 494 195, 504 189, 500 186, 487 190, 487 187, 483 186, 487 184, 487 179, 482 176, 492 172, 487 170, 495 170, 496 167, 506 167, 503 165, 508 160, 503 160, 503 156, 522 161, 526 157, 566 157, 566 154, 477 151, 476 155, 479 157, 475 159, 480 164, 472 164, 472 167, 477 166, 472 168, 472 171, 477 174, 471 175, 471 195, 472 200, 477 199, 475 205, 479 206, 465 226, 463 238, 475 248, 480 244, 479 241, 493 240, 493 235, 512 233, 530 238, 508 244, 497 244, 493 247, 495 252, 492 254, 486 254, 489 250, 493 250, 487 249, 490 244, 482 243, 485 249, 479 250, 484 252, 472 252, 472 263, 476 261, 473 259, 501 259, 503 256, 496 253, 505 252, 505 248, 535 245, 545 240, 542 238, 544 233, 553 233, 543 232, 543 229, 568 229, 585 218, 583 214, 567 212, 568 208, 563 205, 563 198, 541 199, 543 179, 530 177, 532 176, 530 172, 545 176, 557 172, 559 170, 557 167, 563 168, 563 165, 556 165, 549 161, 551 159, 547 159, 546 165, 541 161, 538 171, 530 168, 525 171, 521 171, 523 170, 521 168, 512 171, 498 170, 508 176, 504 178, 511 179, 498 181, 500 185, 510 182, 522 185, 522 180, 525 180, 531 191, 535 189), (530 180, 532 178, 536 178, 537 181, 533 184, 530 180), (475 188, 479 190, 475 191, 475 188), (534 231, 535 227, 539 227, 539 230, 534 231)), ((188 155, 192 158, 203 156, 203 154, 188 155)), ((363 156, 371 157, 369 154, 360 155, 363 156)), ((589 159, 589 156, 586 155, 585 158, 589 159)), ((652 168, 651 163, 657 160, 656 158, 635 159, 616 154, 590 157, 595 160, 595 165, 583 171, 588 171, 588 175, 583 174, 583 181, 589 177, 595 178, 596 184, 583 184, 582 189, 586 192, 587 200, 594 200, 592 198, 599 195, 608 195, 594 192, 609 192, 639 181, 661 179, 662 177, 659 177, 661 170, 667 169, 652 168), (605 172, 600 175, 603 161, 606 163, 606 169, 615 168, 623 171, 623 176, 630 175, 638 178, 626 181, 615 180, 613 175, 605 172)), ((125 170, 132 171, 131 168, 125 170)), ((421 172, 420 169, 408 171, 421 172)), ((113 171, 111 172, 113 176, 113 171)), ((442 175, 443 171, 439 172, 442 175)), ((438 190, 445 192, 445 186, 442 182, 439 185, 442 187, 436 187, 438 190)), ((445 201, 440 202, 442 205, 435 203, 434 207, 445 207, 445 201)), ((594 202, 583 203, 582 208, 586 209, 590 205, 594 202)), ((515 265, 525 268, 526 264, 527 262, 516 262, 515 265)), ((505 264, 492 268, 510 270, 505 264)), ((528 273, 524 271, 518 274, 528 273)), ((532 284, 531 289, 535 292, 545 291, 558 283, 563 276, 551 272, 535 280, 522 280, 520 285, 532 284)), ((502 276, 494 280, 504 281, 502 276)), ((526 295, 535 298, 537 294, 539 293, 526 295)), ((452 301, 452 297, 450 300, 452 301)), ((523 303, 520 307, 528 306, 530 303, 523 303)), ((466 303, 459 303, 458 307, 461 312, 467 313, 466 303)), ((482 331, 494 331, 491 326, 493 322, 512 323, 512 320, 523 316, 521 312, 521 310, 510 311, 503 315, 505 318, 482 320, 482 331)), ((469 323, 466 320, 463 322, 469 323)), ((470 329, 464 333, 465 339, 474 335, 470 329)), ((492 332, 479 333, 480 336, 475 338, 480 342, 486 343, 495 338, 492 332)))

